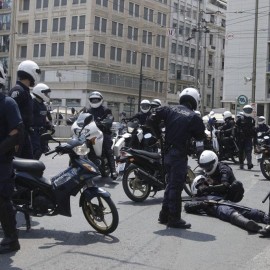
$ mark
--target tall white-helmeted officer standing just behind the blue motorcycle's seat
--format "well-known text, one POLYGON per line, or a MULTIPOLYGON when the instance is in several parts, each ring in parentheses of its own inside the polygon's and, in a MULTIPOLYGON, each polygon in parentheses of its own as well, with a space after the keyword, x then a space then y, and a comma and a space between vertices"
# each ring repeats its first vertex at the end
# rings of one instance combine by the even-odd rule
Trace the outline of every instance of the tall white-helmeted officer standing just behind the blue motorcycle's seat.
POLYGON ((33 101, 29 87, 34 87, 39 81, 40 73, 39 66, 35 62, 31 60, 21 62, 17 69, 18 80, 16 85, 9 91, 9 96, 12 97, 19 106, 25 126, 24 143, 18 154, 16 154, 21 158, 33 158, 33 150, 30 142, 31 126, 33 124, 33 101))

